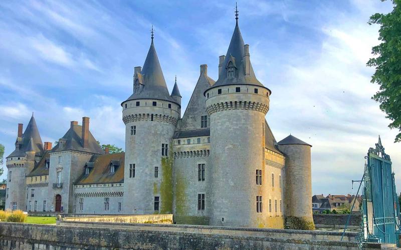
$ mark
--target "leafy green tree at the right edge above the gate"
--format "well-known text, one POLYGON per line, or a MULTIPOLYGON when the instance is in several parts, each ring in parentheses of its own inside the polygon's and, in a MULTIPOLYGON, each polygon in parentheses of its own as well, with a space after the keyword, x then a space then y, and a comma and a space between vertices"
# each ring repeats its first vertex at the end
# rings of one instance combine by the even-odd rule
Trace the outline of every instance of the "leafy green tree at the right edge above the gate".
POLYGON ((392 0, 394 7, 387 14, 375 13, 368 24, 379 24, 381 41, 372 47, 367 65, 375 67, 371 82, 380 86, 372 99, 380 102, 380 109, 391 120, 389 128, 399 129, 394 142, 401 142, 401 0, 392 0))

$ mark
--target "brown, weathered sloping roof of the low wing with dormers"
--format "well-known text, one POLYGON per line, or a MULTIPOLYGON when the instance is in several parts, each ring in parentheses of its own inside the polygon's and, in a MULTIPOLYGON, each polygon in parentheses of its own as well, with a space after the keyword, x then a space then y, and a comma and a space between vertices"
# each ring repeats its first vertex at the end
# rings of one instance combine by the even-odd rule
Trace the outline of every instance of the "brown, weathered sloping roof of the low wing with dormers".
POLYGON ((124 182, 124 157, 124 152, 93 155, 89 160, 89 162, 93 162, 93 168, 89 174, 85 174, 85 169, 82 167, 83 174, 75 184, 124 182), (110 162, 115 166, 114 173, 110 173, 110 162))

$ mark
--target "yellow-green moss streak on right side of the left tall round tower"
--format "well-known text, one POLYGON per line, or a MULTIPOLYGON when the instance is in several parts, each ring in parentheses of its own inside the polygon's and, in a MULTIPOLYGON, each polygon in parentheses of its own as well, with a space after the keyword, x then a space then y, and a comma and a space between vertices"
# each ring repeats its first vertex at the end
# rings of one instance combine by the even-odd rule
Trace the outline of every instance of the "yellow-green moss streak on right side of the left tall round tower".
MULTIPOLYGON (((174 157, 172 153, 172 143, 169 144, 168 156, 161 157, 161 182, 160 182, 160 213, 172 213, 172 166, 174 157)), ((154 188, 153 188, 154 189, 154 188)), ((156 187, 157 191, 157 187, 156 187)))

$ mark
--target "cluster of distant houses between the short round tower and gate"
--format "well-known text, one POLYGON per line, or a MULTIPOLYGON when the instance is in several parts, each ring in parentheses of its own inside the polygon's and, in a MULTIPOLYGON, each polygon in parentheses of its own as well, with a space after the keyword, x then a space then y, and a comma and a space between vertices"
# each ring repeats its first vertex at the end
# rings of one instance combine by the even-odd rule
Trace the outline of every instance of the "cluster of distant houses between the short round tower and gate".
POLYGON ((351 209, 354 200, 355 204, 352 212, 358 212, 361 201, 359 195, 329 194, 324 197, 323 194, 315 194, 312 196, 312 210, 314 213, 322 213, 324 210, 333 211, 343 207, 351 209))

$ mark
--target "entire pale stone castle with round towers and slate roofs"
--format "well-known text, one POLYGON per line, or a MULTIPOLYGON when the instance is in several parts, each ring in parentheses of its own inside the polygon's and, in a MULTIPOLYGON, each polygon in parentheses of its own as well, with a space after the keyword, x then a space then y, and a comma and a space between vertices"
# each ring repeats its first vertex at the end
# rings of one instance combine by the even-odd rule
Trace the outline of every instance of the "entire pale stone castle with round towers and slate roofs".
POLYGON ((265 119, 271 90, 252 68, 238 15, 217 81, 200 74, 181 117, 153 42, 134 67, 121 103, 125 152, 108 153, 89 118, 56 145, 42 143, 34 116, 7 157, 6 208, 81 214, 173 213, 174 221, 219 226, 314 228, 311 145, 277 142, 265 119))

